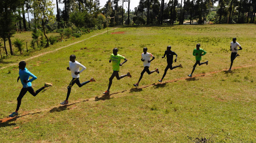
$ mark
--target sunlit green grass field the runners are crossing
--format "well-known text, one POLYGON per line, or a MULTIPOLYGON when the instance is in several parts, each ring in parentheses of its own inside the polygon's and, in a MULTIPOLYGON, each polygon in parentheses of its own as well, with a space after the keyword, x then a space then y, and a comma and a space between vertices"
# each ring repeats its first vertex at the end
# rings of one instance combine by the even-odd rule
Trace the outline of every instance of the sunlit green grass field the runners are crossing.
POLYGON ((26 60, 26 67, 37 76, 32 82, 35 90, 44 82, 53 84, 36 97, 29 93, 23 97, 19 116, 0 123, 1 142, 184 143, 204 137, 213 142, 256 142, 256 25, 124 26, 115 30, 124 34, 100 34, 104 31, 60 42, 29 56, 0 60, 0 118, 4 120, 16 109, 22 87, 17 83, 21 60, 46 53, 26 60), (81 41, 96 34, 100 35, 81 41), (234 61, 236 69, 228 72, 233 37, 243 50, 234 61), (56 50, 77 41, 81 42, 56 50), (192 52, 197 43, 207 51, 202 61, 209 64, 197 66, 194 77, 187 78, 195 63, 192 52), (159 83, 167 64, 161 57, 168 45, 178 54, 173 66, 182 64, 183 68, 169 70, 159 83), (119 75, 129 71, 132 78, 113 79, 110 95, 103 96, 112 74, 108 59, 114 47, 128 59, 119 75), (158 67, 160 73, 145 73, 139 87, 134 88, 132 84, 143 70, 143 47, 156 57, 149 70, 158 67), (72 79, 66 70, 71 54, 87 68, 80 81, 91 77, 97 81, 81 88, 73 86, 69 104, 60 106, 72 79))

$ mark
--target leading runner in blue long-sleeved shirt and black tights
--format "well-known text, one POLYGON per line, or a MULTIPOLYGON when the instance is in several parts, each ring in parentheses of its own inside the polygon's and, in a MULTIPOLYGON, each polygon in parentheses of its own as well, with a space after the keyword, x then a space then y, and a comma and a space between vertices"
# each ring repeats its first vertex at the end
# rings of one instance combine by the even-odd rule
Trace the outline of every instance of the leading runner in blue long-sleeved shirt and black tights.
POLYGON ((13 112, 11 115, 9 115, 9 117, 15 117, 18 116, 18 110, 20 108, 20 104, 21 104, 21 99, 23 98, 23 96, 29 92, 30 94, 32 94, 33 96, 36 96, 40 91, 42 91, 45 87, 52 87, 52 84, 50 83, 44 83, 44 86, 39 88, 38 90, 36 90, 36 92, 34 91, 34 89, 32 88, 32 84, 31 82, 35 79, 37 79, 37 77, 35 75, 33 75, 31 72, 28 71, 28 69, 26 68, 26 62, 25 61, 21 61, 19 63, 19 77, 17 79, 17 82, 20 82, 23 85, 23 87, 21 88, 20 94, 17 98, 17 108, 16 111, 13 112), (32 77, 32 79, 29 79, 29 76, 32 77))

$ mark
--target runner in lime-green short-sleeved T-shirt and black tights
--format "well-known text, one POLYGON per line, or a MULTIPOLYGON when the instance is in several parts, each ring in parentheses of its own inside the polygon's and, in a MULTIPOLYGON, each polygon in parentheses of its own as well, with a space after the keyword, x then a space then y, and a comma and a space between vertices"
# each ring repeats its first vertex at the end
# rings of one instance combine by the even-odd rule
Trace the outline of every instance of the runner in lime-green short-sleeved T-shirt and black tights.
POLYGON ((132 77, 130 72, 127 72, 127 74, 119 76, 118 72, 120 70, 120 66, 122 66, 125 62, 127 62, 127 59, 124 58, 124 56, 117 54, 117 52, 118 52, 118 49, 114 48, 113 54, 111 54, 110 58, 109 58, 109 63, 111 63, 111 61, 112 61, 113 73, 112 73, 111 77, 109 78, 108 89, 105 92, 103 92, 103 94, 105 94, 105 95, 109 94, 109 89, 112 85, 112 80, 114 79, 114 77, 116 77, 117 80, 120 80, 126 76, 130 77, 130 78, 132 77), (121 59, 123 59, 124 62, 120 64, 121 59))

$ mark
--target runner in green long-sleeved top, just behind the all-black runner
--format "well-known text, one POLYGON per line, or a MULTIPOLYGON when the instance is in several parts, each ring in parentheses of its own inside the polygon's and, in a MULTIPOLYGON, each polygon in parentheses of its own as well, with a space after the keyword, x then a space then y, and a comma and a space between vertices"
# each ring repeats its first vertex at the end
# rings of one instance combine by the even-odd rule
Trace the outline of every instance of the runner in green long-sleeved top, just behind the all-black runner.
POLYGON ((206 65, 208 65, 208 61, 206 61, 206 62, 204 62, 204 63, 200 63, 200 61, 202 60, 202 56, 204 56, 204 55, 206 54, 206 51, 205 51, 204 49, 201 49, 200 46, 201 46, 201 45, 200 45, 199 43, 196 44, 196 49, 193 50, 193 56, 196 56, 196 63, 195 63, 194 66, 193 66, 193 70, 192 70, 191 74, 188 75, 189 77, 192 77, 192 74, 193 74, 193 72, 195 71, 197 64, 198 64, 199 66, 200 66, 201 64, 206 64, 206 65), (203 53, 203 52, 204 52, 204 53, 203 53), (203 54, 202 54, 202 53, 203 53, 203 54))

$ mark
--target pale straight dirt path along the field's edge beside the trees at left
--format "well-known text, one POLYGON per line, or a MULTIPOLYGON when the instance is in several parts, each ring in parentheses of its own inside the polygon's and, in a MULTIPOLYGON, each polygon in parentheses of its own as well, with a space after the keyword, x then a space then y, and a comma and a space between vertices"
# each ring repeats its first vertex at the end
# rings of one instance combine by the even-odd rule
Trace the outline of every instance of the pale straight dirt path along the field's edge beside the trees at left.
MULTIPOLYGON (((117 29, 117 28, 116 28, 116 29, 117 29)), ((111 30, 113 30, 113 29, 111 29, 111 30)), ((108 31, 111 31, 111 30, 108 30, 108 31)), ((43 55, 45 55, 45 54, 48 54, 48 53, 52 53, 52 52, 58 51, 58 50, 60 50, 60 49, 63 49, 63 48, 66 48, 66 47, 68 47, 68 46, 71 46, 71 45, 77 44, 77 43, 79 43, 79 42, 85 41, 85 40, 87 40, 87 39, 90 39, 90 38, 92 38, 92 37, 95 37, 95 36, 98 36, 98 35, 101 35, 101 34, 104 34, 104 33, 106 33, 106 32, 107 32, 107 31, 102 32, 102 33, 99 33, 99 34, 96 34, 96 35, 93 35, 93 36, 91 36, 91 37, 89 37, 89 38, 83 39, 83 40, 81 40, 81 41, 74 42, 74 43, 72 43, 72 44, 69 44, 69 45, 66 45, 66 46, 60 47, 60 48, 58 48, 58 49, 54 49, 54 50, 52 50, 52 51, 48 51, 48 52, 45 52, 45 53, 41 53, 41 54, 36 55, 36 56, 31 56, 30 58, 24 59, 24 60, 22 60, 22 61, 28 61, 28 60, 33 59, 33 58, 35 58, 35 57, 43 56, 43 55)), ((1 67, 1 68, 0 68, 0 70, 2 70, 2 69, 4 69, 4 68, 7 68, 7 67, 9 67, 9 66, 12 66, 12 65, 18 65, 18 64, 19 64, 19 63, 10 64, 10 65, 7 65, 7 66, 4 66, 4 67, 1 67)))

